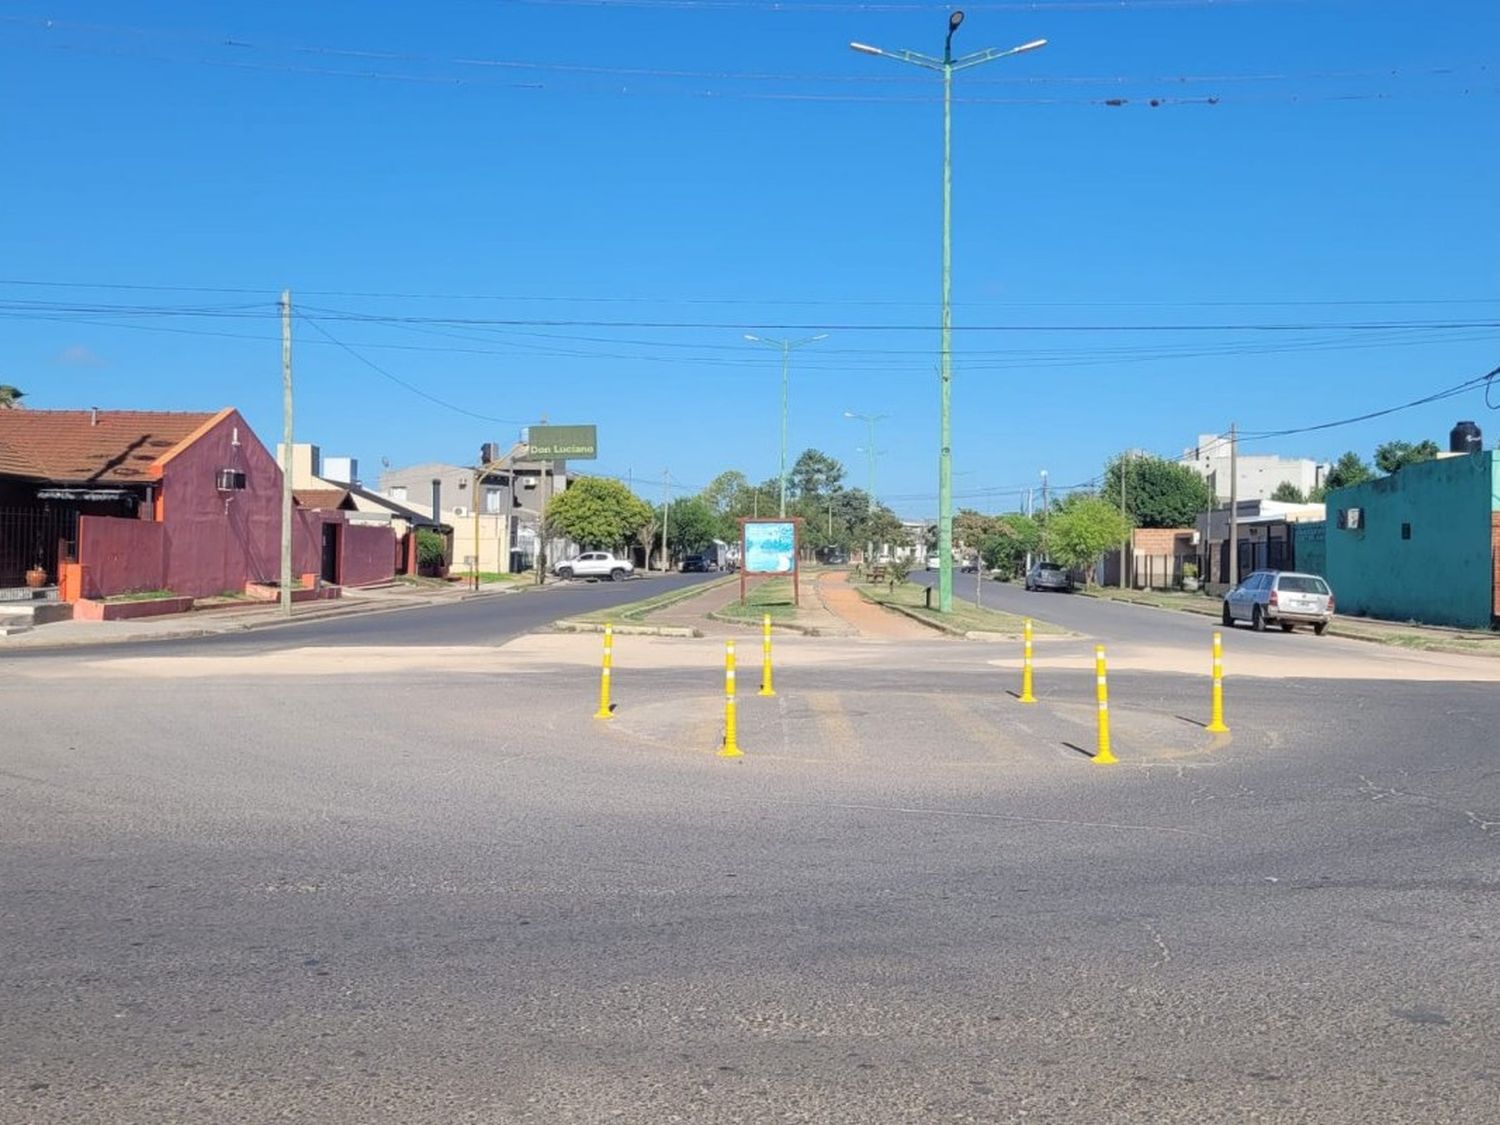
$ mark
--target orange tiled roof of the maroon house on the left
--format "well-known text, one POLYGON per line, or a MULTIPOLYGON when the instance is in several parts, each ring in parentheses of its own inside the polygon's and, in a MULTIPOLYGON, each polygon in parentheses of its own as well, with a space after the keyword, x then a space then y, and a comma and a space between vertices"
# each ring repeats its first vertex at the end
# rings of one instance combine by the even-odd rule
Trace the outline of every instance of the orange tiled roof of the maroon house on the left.
POLYGON ((0 410, 0 474, 58 483, 146 482, 150 468, 216 414, 0 410))

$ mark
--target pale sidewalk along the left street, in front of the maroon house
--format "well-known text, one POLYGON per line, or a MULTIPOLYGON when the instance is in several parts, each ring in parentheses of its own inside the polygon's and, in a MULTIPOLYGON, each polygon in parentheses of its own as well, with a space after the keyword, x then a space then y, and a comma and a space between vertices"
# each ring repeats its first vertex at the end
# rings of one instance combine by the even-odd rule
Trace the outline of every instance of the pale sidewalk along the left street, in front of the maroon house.
MULTIPOLYGON (((291 621, 316 621, 328 616, 356 616, 380 614, 392 609, 438 606, 452 602, 466 602, 476 597, 502 597, 534 590, 531 584, 496 582, 480 586, 478 592, 466 584, 450 588, 414 588, 402 584, 348 588, 342 597, 330 602, 303 602, 291 608, 291 621)), ((0 656, 30 648, 69 648, 74 645, 124 644, 130 640, 182 640, 220 633, 240 633, 252 628, 273 628, 288 624, 276 602, 232 603, 195 609, 189 614, 135 618, 134 621, 57 621, 39 626, 28 633, 0 638, 0 656)))

